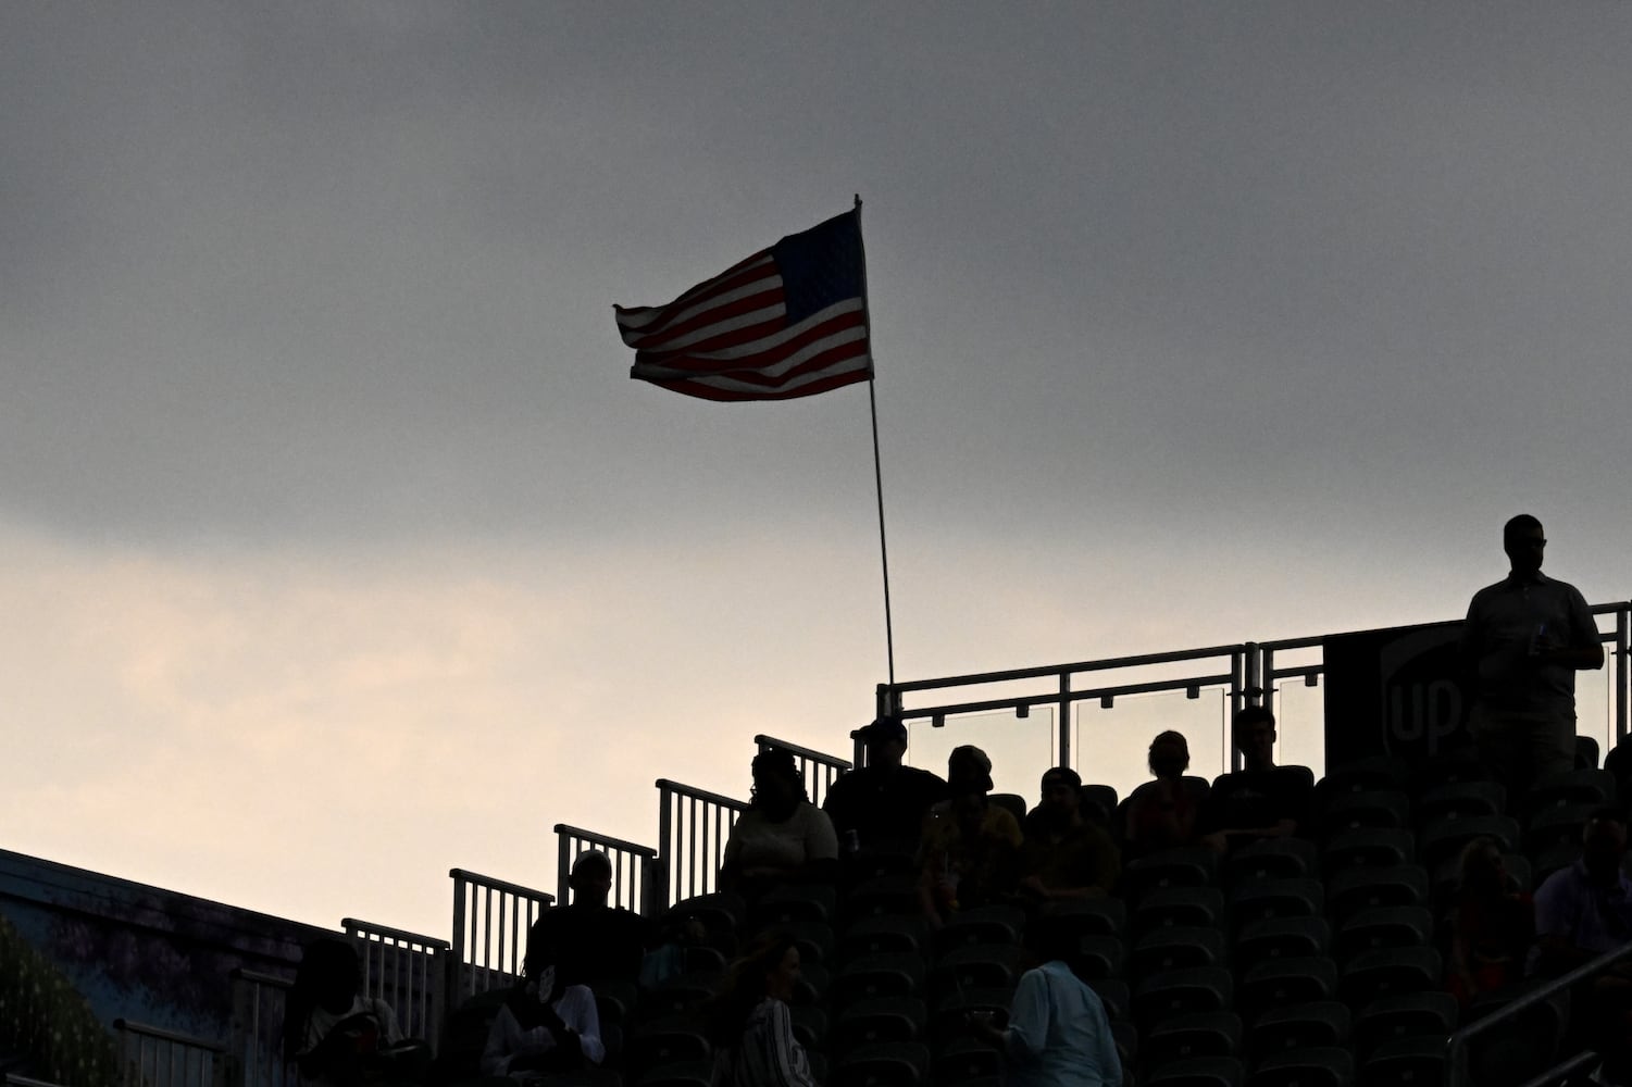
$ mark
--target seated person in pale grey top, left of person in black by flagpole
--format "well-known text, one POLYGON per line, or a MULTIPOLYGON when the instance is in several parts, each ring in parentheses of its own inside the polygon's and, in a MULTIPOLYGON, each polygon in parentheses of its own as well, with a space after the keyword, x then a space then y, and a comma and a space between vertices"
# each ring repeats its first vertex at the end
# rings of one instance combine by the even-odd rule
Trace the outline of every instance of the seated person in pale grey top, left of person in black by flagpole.
POLYGON ((778 883, 832 883, 837 868, 832 821, 809 801, 793 752, 754 756, 754 798, 725 844, 720 888, 756 899, 778 883))

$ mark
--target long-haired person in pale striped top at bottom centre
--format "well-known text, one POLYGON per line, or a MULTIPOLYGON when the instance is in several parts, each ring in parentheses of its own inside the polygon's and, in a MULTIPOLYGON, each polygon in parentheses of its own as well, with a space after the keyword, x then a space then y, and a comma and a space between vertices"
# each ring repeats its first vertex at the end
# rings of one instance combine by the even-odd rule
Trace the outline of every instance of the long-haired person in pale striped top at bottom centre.
POLYGON ((785 934, 761 937, 731 963, 707 1007, 712 1087, 818 1087, 793 1036, 788 1002, 798 983, 800 948, 785 934))

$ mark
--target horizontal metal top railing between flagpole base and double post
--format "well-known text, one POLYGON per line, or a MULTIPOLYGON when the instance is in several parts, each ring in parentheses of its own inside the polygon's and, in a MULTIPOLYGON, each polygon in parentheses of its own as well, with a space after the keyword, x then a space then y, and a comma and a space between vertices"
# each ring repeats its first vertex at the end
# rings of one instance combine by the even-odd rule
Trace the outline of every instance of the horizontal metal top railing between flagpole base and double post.
MULTIPOLYGON (((948 717, 1009 710, 1015 717, 1028 717, 1033 707, 1058 708, 1056 751, 1059 765, 1071 765, 1072 708, 1080 702, 1098 702, 1110 708, 1123 695, 1183 690, 1190 699, 1200 699, 1204 689, 1221 687, 1231 695, 1235 708, 1253 703, 1262 695, 1258 677, 1252 674, 1258 664, 1255 646, 1248 643, 1219 645, 1203 650, 1178 650, 1175 653, 1147 653, 1144 656, 1118 656, 1103 661, 1077 661, 1074 664, 1048 664, 1020 668, 1005 672, 976 672, 969 676, 945 676, 919 679, 904 684, 878 685, 878 717, 899 717, 902 721, 927 720, 940 728, 948 717), (1203 664, 1211 668, 1203 668, 1203 664), (1180 668, 1172 668, 1180 666, 1180 668), (1152 672, 1169 672, 1152 676, 1152 672), (1090 672, 1123 672, 1126 682, 1097 687, 1080 687, 1079 677, 1090 672), (1177 674, 1173 674, 1177 672, 1177 674), (1046 681, 1046 690, 1038 690, 1038 681, 1046 681), (1007 687, 1002 694, 992 687, 1007 687), (979 690, 979 689, 987 690, 979 690), (929 690, 961 689, 965 700, 907 707, 904 695, 929 690), (973 697, 971 697, 973 695, 973 697), (981 697, 984 695, 984 697, 981 697)), ((1227 715, 1226 715, 1227 721, 1227 715)), ((1227 726, 1227 725, 1226 725, 1227 726)), ((1229 751, 1226 736, 1224 749, 1229 751)), ((863 761, 862 741, 855 741, 855 762, 863 761)))

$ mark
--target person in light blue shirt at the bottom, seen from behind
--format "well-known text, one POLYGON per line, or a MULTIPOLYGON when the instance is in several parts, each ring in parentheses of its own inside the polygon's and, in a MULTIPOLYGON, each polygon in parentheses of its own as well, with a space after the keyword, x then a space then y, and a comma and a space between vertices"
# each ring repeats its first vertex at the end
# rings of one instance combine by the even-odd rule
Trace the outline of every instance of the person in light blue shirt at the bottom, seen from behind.
POLYGON ((968 1017, 969 1032, 1004 1054, 1007 1087, 1120 1087, 1121 1058, 1105 1004, 1071 969, 1079 932, 1066 919, 1027 925, 1030 969, 1020 974, 1009 1023, 989 1012, 968 1017))

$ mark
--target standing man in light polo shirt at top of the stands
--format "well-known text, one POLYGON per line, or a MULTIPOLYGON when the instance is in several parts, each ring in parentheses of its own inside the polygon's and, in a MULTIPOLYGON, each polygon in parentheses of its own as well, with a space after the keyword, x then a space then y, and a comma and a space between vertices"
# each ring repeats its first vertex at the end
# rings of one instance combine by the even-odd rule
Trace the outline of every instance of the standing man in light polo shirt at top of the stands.
POLYGON ((1513 805, 1534 782, 1575 769, 1575 672, 1604 666, 1586 601, 1541 571, 1546 547, 1541 521, 1508 521, 1501 548, 1511 570, 1474 594, 1462 623, 1469 733, 1513 805))

